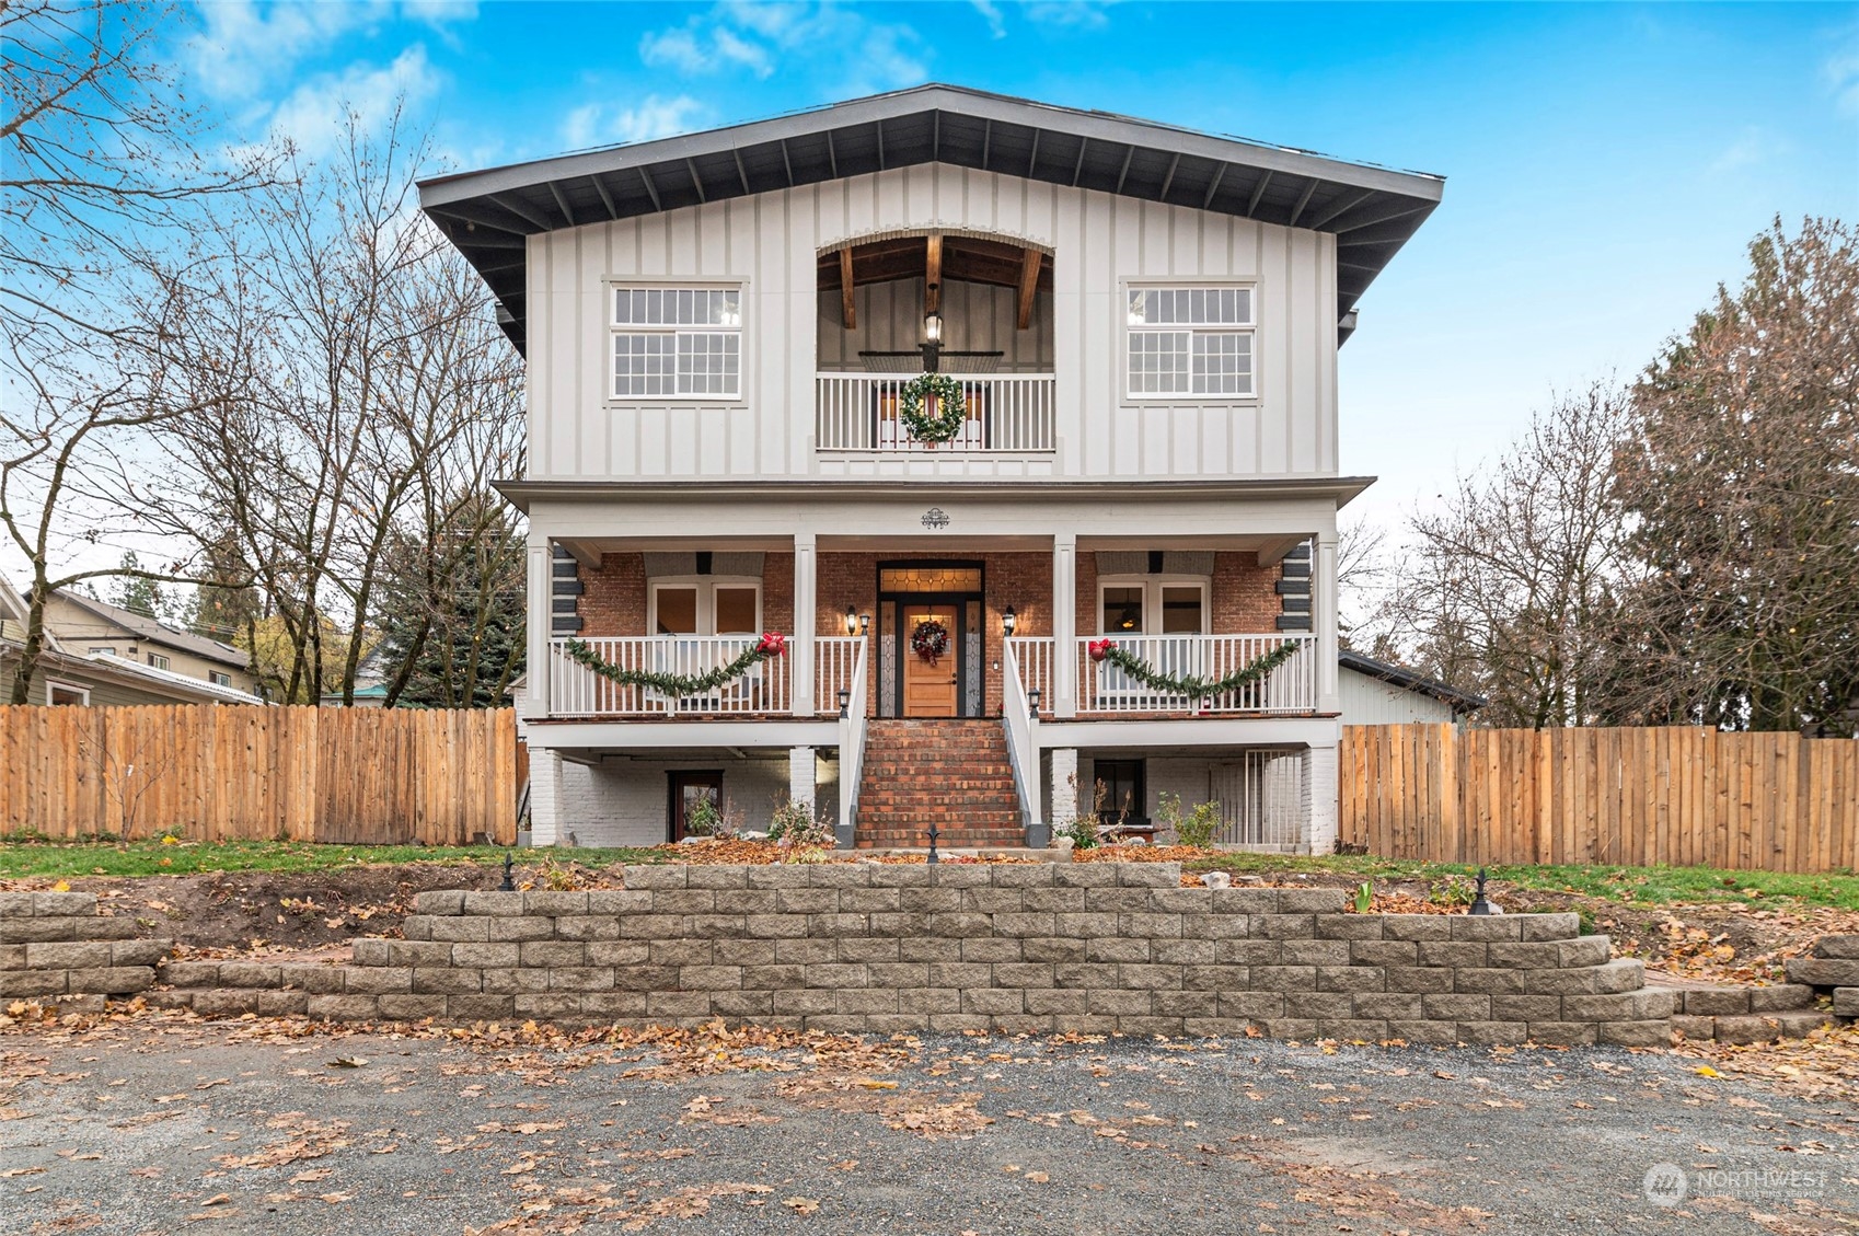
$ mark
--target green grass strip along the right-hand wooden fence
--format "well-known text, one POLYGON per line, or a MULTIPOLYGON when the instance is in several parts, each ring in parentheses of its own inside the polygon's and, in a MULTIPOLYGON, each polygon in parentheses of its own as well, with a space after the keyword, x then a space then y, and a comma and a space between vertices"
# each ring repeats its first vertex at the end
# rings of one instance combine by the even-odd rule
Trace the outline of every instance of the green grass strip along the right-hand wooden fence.
MULTIPOLYGON (((1285 855, 1227 853, 1190 870, 1229 872, 1329 872, 1368 881, 1420 879, 1446 883, 1474 875, 1478 868, 1452 862, 1413 862, 1370 855, 1333 855, 1298 859, 1285 855)), ((1628 905, 1673 905, 1682 901, 1744 901, 1768 905, 1831 905, 1859 909, 1859 875, 1794 875, 1786 872, 1725 872, 1710 866, 1493 866, 1495 881, 1543 892, 1575 892, 1628 905)))

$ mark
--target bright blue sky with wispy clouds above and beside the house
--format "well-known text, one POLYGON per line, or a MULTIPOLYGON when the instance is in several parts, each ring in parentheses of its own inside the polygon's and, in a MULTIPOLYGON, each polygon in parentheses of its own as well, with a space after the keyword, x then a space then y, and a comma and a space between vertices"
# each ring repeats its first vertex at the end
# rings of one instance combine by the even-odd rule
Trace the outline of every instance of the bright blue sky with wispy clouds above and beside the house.
POLYGON ((1396 522, 1552 390, 1638 370, 1773 216, 1859 217, 1859 6, 203 4, 231 139, 405 93, 463 167, 954 82, 1444 175, 1342 349, 1396 522))

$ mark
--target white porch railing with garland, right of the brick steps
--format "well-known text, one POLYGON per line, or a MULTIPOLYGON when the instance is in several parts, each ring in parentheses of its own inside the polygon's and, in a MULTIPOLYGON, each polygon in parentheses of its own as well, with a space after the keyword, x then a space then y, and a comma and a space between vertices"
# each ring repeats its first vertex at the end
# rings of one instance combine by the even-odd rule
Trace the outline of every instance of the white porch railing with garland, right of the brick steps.
POLYGON ((1264 678, 1206 699, 1158 691, 1110 662, 1093 662, 1078 639, 1078 712, 1312 712, 1316 708, 1316 636, 1110 636, 1145 665, 1173 678, 1225 678, 1283 643, 1298 645, 1288 662, 1264 678))

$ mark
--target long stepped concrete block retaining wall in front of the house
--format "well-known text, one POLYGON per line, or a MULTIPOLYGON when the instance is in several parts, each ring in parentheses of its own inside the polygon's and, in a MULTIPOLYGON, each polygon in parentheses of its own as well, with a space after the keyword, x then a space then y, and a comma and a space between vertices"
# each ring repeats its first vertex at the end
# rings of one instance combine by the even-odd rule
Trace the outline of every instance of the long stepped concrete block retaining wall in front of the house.
POLYGON ((1610 961, 1575 914, 1348 914, 1337 890, 1179 875, 632 866, 613 892, 422 892, 407 939, 357 940, 353 965, 177 963, 165 994, 336 1020, 1669 1041, 1673 994, 1643 989, 1641 963, 1610 961))

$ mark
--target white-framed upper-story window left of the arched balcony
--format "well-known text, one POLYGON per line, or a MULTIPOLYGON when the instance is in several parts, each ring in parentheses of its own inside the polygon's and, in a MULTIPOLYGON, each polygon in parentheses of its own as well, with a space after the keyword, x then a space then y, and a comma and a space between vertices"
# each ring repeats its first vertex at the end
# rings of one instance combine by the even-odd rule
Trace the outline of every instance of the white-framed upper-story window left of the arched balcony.
POLYGON ((613 288, 613 398, 740 398, 742 288, 613 288))

